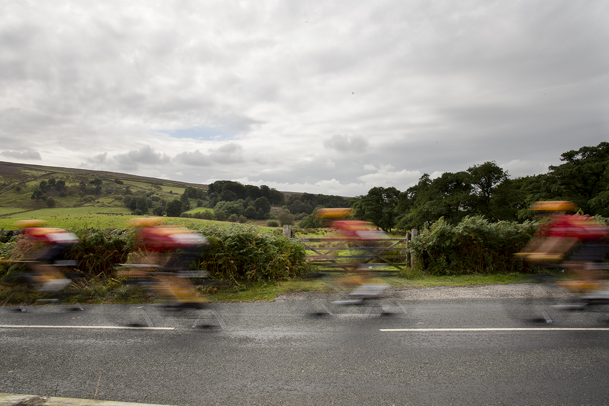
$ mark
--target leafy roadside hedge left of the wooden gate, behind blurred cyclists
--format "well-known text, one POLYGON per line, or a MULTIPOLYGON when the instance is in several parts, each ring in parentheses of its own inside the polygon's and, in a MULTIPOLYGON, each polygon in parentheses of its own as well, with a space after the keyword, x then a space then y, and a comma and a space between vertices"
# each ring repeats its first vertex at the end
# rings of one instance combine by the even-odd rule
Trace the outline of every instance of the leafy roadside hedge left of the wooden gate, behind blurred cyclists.
MULTIPOLYGON (((77 269, 86 278, 110 278, 118 264, 127 262, 133 251, 134 234, 122 228, 74 229, 80 243, 66 254, 78 261, 77 269)), ((289 240, 279 233, 267 233, 256 226, 211 226, 199 230, 209 245, 202 250, 191 267, 207 270, 215 279, 228 282, 276 281, 296 276, 308 268, 305 248, 297 240, 289 240)), ((3 259, 30 259, 33 243, 20 235, 0 245, 3 259)), ((0 278, 24 271, 23 264, 4 262, 0 278)))

